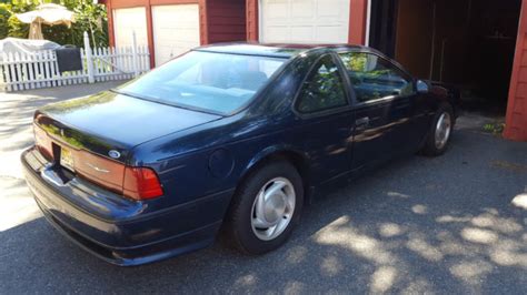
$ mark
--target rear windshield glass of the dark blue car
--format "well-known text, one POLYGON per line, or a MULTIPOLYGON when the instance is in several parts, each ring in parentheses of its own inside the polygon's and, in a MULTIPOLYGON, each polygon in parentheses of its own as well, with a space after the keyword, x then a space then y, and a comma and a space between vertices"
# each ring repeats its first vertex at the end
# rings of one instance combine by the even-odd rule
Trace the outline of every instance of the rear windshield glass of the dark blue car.
POLYGON ((182 108, 228 114, 250 101, 285 61, 191 51, 118 91, 182 108))

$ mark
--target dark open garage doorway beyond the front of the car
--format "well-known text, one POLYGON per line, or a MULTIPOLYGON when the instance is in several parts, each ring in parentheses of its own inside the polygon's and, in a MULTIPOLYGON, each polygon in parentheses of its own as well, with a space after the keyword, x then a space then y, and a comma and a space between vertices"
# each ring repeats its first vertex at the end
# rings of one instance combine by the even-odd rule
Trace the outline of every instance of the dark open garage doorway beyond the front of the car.
POLYGON ((415 75, 457 88, 464 109, 503 118, 520 0, 374 0, 370 45, 415 75))

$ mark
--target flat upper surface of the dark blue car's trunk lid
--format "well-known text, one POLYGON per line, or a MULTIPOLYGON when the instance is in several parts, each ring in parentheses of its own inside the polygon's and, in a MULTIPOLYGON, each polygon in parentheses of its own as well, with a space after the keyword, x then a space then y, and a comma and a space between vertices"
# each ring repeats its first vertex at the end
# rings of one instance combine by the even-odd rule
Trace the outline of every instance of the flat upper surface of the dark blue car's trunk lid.
POLYGON ((220 116, 146 101, 113 92, 50 104, 34 123, 71 148, 120 159, 136 145, 205 124, 220 116))

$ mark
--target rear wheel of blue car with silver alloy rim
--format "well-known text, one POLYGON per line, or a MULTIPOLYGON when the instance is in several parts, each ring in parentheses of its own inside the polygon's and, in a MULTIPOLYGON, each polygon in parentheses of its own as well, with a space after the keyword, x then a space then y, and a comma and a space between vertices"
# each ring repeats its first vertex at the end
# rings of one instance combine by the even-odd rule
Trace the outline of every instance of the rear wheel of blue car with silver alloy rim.
POLYGON ((302 180, 286 161, 252 172, 238 187, 227 216, 226 231, 247 254, 280 247, 291 235, 304 205, 302 180))

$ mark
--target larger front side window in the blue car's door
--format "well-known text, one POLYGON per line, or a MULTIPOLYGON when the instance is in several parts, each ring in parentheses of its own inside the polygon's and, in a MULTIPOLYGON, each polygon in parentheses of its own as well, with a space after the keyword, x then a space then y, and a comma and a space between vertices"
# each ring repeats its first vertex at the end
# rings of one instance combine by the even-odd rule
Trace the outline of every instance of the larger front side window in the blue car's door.
POLYGON ((371 53, 340 53, 359 102, 414 93, 411 79, 389 61, 371 53))

